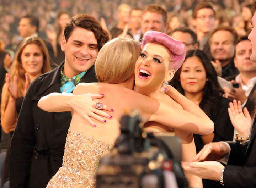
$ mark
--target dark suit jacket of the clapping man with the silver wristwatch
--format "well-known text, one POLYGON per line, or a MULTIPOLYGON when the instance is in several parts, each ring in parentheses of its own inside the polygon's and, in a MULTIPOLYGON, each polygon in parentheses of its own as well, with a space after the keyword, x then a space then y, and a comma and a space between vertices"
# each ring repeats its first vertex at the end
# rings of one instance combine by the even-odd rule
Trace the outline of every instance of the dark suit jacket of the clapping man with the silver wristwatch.
POLYGON ((249 142, 230 142, 228 166, 223 173, 224 187, 256 187, 256 117, 252 123, 249 142))

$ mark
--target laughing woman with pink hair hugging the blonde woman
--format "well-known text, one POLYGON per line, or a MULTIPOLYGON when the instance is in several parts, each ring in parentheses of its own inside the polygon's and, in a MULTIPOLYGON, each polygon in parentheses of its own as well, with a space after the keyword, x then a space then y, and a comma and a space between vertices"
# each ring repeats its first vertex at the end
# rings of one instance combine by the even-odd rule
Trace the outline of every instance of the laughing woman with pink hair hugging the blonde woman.
MULTIPOLYGON (((135 87, 138 93, 163 101, 170 106, 183 108, 186 111, 192 109, 185 100, 180 100, 175 95, 176 90, 167 87, 174 73, 181 67, 185 59, 185 45, 179 40, 156 31, 145 33, 142 41, 142 52, 135 65, 135 87), (163 88, 163 89, 161 89, 163 88), (164 90, 164 92, 162 92, 164 90), (168 96, 169 95, 169 96, 168 96)), ((178 114, 174 114, 174 116, 178 114)), ((170 116, 170 119, 172 116, 170 116)), ((196 147, 193 134, 157 122, 147 122, 144 130, 156 134, 169 134, 175 132, 181 139, 182 160, 192 161, 196 156, 196 147)), ((202 179, 185 173, 190 187, 202 187, 202 179)))

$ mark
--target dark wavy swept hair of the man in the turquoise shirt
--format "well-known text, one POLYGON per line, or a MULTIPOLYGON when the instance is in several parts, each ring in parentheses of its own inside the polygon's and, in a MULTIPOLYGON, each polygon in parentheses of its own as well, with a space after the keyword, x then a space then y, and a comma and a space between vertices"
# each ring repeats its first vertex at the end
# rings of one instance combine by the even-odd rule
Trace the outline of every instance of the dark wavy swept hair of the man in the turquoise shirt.
POLYGON ((79 14, 72 17, 72 19, 66 23, 64 29, 64 37, 66 41, 68 41, 71 33, 76 27, 81 27, 94 33, 98 43, 98 50, 100 50, 102 46, 109 40, 108 33, 102 29, 100 23, 93 16, 79 14))

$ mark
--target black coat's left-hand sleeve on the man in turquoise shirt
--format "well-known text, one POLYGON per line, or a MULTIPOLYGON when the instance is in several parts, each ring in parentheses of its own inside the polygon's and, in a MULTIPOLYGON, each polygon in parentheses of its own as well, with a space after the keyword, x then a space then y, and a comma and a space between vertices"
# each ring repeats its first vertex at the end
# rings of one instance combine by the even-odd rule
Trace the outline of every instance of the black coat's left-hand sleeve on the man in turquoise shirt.
POLYGON ((34 83, 31 83, 23 100, 11 141, 9 178, 12 188, 28 187, 31 158, 36 144, 31 101, 34 83))

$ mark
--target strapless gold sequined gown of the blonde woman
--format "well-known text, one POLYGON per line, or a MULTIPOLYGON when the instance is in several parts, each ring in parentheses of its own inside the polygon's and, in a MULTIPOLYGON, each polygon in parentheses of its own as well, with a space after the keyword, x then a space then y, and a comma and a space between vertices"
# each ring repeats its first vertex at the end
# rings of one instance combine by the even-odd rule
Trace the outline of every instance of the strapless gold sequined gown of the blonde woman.
POLYGON ((49 181, 47 188, 94 188, 98 162, 112 148, 109 143, 69 130, 62 167, 49 181))

